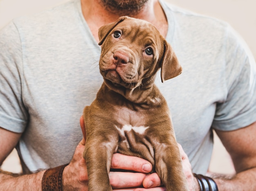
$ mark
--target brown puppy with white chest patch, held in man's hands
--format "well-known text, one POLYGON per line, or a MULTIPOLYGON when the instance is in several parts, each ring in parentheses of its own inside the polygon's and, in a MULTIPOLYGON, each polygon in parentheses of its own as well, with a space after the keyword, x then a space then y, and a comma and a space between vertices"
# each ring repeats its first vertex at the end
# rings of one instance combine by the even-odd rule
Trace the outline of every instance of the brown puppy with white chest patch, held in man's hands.
POLYGON ((99 29, 103 76, 97 98, 84 109, 84 158, 89 191, 111 191, 115 152, 150 161, 167 191, 187 191, 167 103, 154 84, 182 72, 171 46, 144 20, 121 17, 99 29))

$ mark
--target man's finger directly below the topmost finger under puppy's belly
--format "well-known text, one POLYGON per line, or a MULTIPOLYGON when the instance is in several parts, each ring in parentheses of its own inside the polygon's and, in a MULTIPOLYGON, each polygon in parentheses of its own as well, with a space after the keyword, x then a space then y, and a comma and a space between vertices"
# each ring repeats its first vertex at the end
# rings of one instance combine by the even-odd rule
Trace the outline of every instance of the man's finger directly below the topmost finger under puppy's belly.
POLYGON ((144 173, 112 171, 109 173, 109 179, 112 188, 140 187, 145 177, 146 174, 144 173))

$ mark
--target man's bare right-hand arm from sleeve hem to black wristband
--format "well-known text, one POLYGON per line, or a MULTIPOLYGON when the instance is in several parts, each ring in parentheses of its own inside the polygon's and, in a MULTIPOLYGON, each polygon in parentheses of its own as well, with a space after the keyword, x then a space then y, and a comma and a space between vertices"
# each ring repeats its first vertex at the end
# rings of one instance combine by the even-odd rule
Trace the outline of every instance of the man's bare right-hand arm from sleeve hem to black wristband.
POLYGON ((256 122, 239 130, 216 130, 216 133, 229 152, 236 169, 236 175, 231 178, 213 175, 219 190, 256 190, 256 122))

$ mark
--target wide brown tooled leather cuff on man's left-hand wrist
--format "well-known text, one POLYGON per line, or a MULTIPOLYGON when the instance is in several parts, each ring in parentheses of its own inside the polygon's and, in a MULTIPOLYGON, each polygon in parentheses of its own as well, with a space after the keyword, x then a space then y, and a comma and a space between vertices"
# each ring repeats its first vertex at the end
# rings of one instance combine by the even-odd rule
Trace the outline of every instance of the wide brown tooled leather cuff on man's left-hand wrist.
POLYGON ((67 165, 61 165, 45 171, 42 180, 42 191, 62 191, 61 178, 67 165))

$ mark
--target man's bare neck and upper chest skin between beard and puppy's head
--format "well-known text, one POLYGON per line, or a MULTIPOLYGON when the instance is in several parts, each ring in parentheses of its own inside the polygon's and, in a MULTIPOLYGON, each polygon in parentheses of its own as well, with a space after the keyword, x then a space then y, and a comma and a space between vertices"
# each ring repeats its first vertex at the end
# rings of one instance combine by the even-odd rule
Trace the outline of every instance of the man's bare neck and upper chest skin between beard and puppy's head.
POLYGON ((99 42, 99 28, 105 24, 115 22, 121 16, 130 16, 146 20, 155 25, 164 37, 166 36, 168 24, 164 11, 162 10, 158 0, 148 0, 144 7, 134 15, 113 13, 103 7, 98 0, 81 0, 81 5, 83 16, 97 42, 99 42))

